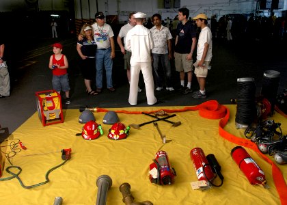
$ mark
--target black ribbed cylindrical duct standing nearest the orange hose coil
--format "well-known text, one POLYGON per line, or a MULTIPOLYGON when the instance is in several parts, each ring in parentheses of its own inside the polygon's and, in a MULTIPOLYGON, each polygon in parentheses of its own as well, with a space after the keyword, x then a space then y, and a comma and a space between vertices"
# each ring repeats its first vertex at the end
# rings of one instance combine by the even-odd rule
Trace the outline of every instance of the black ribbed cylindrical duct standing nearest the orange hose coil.
POLYGON ((236 128, 246 128, 256 117, 256 85, 253 78, 237 79, 236 128))

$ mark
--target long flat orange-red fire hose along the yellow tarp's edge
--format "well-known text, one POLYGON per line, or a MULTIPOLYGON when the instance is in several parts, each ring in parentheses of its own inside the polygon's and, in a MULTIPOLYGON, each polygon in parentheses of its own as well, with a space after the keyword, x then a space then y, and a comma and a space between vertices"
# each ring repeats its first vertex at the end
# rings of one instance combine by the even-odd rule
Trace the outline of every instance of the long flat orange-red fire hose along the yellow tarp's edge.
MULTIPOLYGON (((98 112, 107 112, 107 109, 96 109, 98 112)), ((156 111, 165 111, 167 113, 175 113, 175 112, 182 112, 182 111, 199 111, 200 116, 202 118, 208 118, 208 119, 221 119, 219 121, 219 135, 223 137, 224 139, 227 139, 228 141, 231 141, 233 143, 236 143, 240 146, 250 148, 251 150, 254 150, 260 156, 267 161, 272 166, 272 176, 273 180, 277 189, 277 193, 279 195, 280 201, 282 205, 287 205, 287 185, 284 180, 284 176, 282 175, 282 172, 280 169, 271 161, 271 159, 268 158, 268 156, 265 156, 260 152, 258 147, 255 143, 251 142, 248 139, 243 139, 241 137, 236 137, 235 135, 232 135, 228 133, 228 131, 224 130, 224 127, 228 123, 229 117, 230 117, 230 111, 227 107, 224 105, 220 105, 217 100, 209 100, 206 102, 203 102, 200 105, 196 105, 194 107, 184 107, 182 109, 159 109, 156 111)), ((145 113, 155 113, 156 111, 144 111, 145 113)), ((126 111, 126 110, 120 110, 115 111, 116 113, 126 113, 126 114, 141 114, 143 111, 126 111)))

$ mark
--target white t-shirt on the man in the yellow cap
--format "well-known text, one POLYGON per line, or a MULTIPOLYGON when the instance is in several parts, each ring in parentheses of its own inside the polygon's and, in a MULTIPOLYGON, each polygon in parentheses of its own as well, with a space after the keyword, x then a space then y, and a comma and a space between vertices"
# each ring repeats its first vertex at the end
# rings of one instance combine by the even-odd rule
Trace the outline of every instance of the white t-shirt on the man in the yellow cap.
POLYGON ((200 37, 198 38, 198 42, 197 42, 197 60, 201 60, 202 59, 202 55, 203 55, 203 51, 204 51, 204 44, 208 43, 209 47, 208 47, 208 51, 206 53, 206 57, 205 57, 205 61, 211 61, 211 58, 213 57, 213 40, 211 39, 212 34, 210 31, 209 27, 204 27, 204 29, 202 29, 202 31, 200 31, 200 37))

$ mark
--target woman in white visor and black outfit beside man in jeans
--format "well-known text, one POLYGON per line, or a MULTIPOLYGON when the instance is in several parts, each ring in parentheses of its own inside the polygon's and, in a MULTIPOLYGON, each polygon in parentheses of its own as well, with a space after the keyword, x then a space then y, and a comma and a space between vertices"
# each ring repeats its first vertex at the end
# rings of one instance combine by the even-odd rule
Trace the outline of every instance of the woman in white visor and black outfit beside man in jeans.
POLYGON ((77 51, 81 57, 81 72, 83 74, 84 83, 87 94, 94 96, 98 94, 92 90, 92 81, 96 79, 96 42, 94 41, 94 31, 90 24, 83 25, 81 29, 83 40, 77 42, 77 51))

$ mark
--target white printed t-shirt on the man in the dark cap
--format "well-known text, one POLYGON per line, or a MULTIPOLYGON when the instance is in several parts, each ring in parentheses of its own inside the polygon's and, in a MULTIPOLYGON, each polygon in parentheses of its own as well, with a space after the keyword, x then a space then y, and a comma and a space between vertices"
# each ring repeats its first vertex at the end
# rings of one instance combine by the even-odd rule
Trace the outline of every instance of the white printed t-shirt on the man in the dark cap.
POLYGON ((111 46, 109 38, 114 36, 111 26, 105 23, 102 27, 99 27, 97 23, 94 23, 92 27, 94 29, 94 40, 98 49, 108 49, 111 46))

